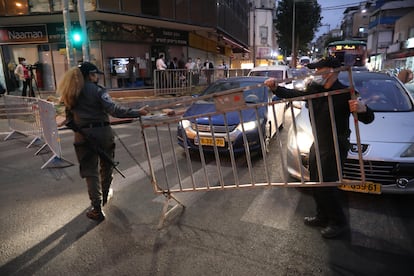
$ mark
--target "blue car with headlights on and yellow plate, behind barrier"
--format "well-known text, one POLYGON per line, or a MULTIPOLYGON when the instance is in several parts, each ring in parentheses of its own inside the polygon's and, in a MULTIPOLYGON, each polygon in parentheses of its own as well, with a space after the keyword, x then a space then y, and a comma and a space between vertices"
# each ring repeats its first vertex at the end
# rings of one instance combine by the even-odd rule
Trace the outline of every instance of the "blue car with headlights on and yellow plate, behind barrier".
POLYGON ((216 145, 219 152, 229 152, 232 149, 234 153, 238 153, 245 151, 244 131, 249 150, 260 152, 260 131, 264 146, 268 150, 269 142, 276 130, 283 127, 286 105, 277 103, 273 108, 273 104, 269 104, 277 98, 263 85, 266 79, 232 77, 220 79, 207 87, 198 96, 200 100, 194 102, 183 114, 177 129, 178 144, 197 151, 200 144, 205 152, 214 151, 216 145), (245 90, 240 93, 247 108, 223 112, 216 110, 214 96, 217 96, 217 93, 242 87, 245 87, 245 90))

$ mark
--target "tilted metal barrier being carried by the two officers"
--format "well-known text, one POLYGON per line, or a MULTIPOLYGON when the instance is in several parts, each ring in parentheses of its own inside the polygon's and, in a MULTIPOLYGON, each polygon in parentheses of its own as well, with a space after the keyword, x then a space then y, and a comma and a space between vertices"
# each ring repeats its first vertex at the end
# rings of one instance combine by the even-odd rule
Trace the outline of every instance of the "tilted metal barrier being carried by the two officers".
MULTIPOLYGON (((350 72, 350 78, 352 72, 350 72)), ((352 83, 352 80, 350 81, 352 83)), ((261 85, 259 85, 261 86, 261 85)), ((183 101, 177 100, 173 103, 152 107, 154 115, 144 116, 141 118, 141 129, 143 140, 145 143, 145 149, 148 159, 149 176, 153 185, 154 192, 157 194, 163 194, 166 198, 163 214, 160 219, 159 227, 162 226, 166 216, 173 211, 176 207, 183 206, 183 204, 174 196, 176 193, 182 192, 196 192, 196 191, 212 191, 212 190, 227 190, 227 189, 245 189, 245 188, 257 188, 257 187, 314 187, 314 186, 338 186, 340 184, 346 185, 360 185, 364 184, 364 168, 362 163, 361 144, 359 139, 358 121, 354 120, 358 152, 360 158, 360 170, 361 180, 346 180, 342 175, 342 168, 340 163, 338 139, 336 137, 336 124, 333 120, 332 135, 334 137, 336 166, 339 172, 339 180, 335 182, 312 182, 307 181, 306 176, 301 167, 301 179, 300 181, 292 181, 288 177, 287 165, 285 162, 285 145, 282 145, 280 139, 279 130, 275 135, 274 143, 271 143, 271 150, 275 151, 274 154, 269 155, 267 152, 265 134, 259 131, 260 149, 258 154, 250 152, 249 138, 243 131, 244 152, 235 154, 233 152, 232 143, 227 143, 231 140, 230 128, 227 123, 229 116, 238 116, 239 120, 243 122, 242 110, 253 109, 256 114, 256 124, 260 125, 260 118, 258 116, 259 108, 269 106, 273 109, 274 121, 281 120, 276 118, 275 105, 292 103, 294 101, 308 101, 311 120, 313 120, 313 98, 327 97, 329 103, 329 112, 331 118, 334 118, 334 109, 332 96, 341 93, 353 93, 353 87, 348 89, 330 91, 325 93, 313 94, 306 97, 298 97, 292 99, 282 99, 278 101, 272 101, 269 103, 259 104, 246 104, 244 100, 240 101, 240 96, 243 99, 243 91, 251 89, 252 87, 237 88, 227 90, 213 95, 201 96, 198 98, 189 98, 183 101), (212 97, 212 98, 211 98, 212 97), (211 98, 211 99, 210 99, 211 98), (236 100, 237 99, 237 100, 236 100), (212 100, 216 106, 216 112, 183 116, 183 111, 195 101, 212 100), (174 116, 165 115, 166 110, 175 110, 174 116), (163 113, 164 112, 164 113, 163 113), (225 124, 218 128, 213 126, 213 116, 221 115, 224 118, 225 124), (198 125, 196 122, 199 118, 207 118, 207 125, 198 125), (192 128, 195 130, 194 139, 201 141, 206 135, 212 137, 213 142, 210 145, 211 153, 206 153, 201 142, 198 143, 196 150, 189 149, 190 143, 186 135, 182 135, 184 147, 178 146, 177 143, 177 125, 183 121, 192 122, 192 128), (220 153, 223 145, 218 145, 216 141, 217 137, 223 137, 226 141, 225 147, 228 148, 228 153, 220 153), (167 138, 167 142, 165 142, 167 138), (182 158, 178 158, 181 156, 182 158), (271 157, 272 156, 272 157, 271 157), (197 162, 194 162, 197 160, 197 162), (279 163, 282 167, 280 172, 276 172, 273 169, 275 162, 279 163), (243 177, 241 177, 243 175, 243 177), (169 201, 174 200, 177 204, 168 210, 169 201)), ((292 113, 292 125, 294 128, 295 136, 297 136, 296 121, 294 116, 294 105, 290 104, 290 112, 292 113)), ((243 125, 243 124, 242 124, 243 125)), ((314 137, 316 137, 316 129, 313 127, 314 137)), ((297 145, 298 163, 302 164, 299 145, 297 145)), ((316 155, 317 155, 317 167, 318 173, 323 179, 323 173, 321 170, 320 153, 317 142, 315 142, 316 155)))

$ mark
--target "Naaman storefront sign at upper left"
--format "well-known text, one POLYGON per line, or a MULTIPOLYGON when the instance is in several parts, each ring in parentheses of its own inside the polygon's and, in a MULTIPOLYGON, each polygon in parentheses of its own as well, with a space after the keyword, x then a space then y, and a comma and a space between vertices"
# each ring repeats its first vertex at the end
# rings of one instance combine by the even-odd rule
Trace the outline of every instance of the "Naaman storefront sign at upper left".
POLYGON ((0 27, 0 44, 48 42, 46 25, 0 27))

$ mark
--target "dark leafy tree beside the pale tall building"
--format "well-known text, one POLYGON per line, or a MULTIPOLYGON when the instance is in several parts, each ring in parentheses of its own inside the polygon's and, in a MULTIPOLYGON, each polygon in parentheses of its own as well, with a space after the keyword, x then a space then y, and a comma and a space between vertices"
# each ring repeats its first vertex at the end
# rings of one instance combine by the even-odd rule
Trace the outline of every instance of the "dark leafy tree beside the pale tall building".
MULTIPOLYGON (((275 27, 279 46, 292 53, 293 3, 295 2, 295 53, 305 51, 321 26, 321 6, 317 0, 280 0, 275 27)), ((296 56, 296 54, 294 55, 296 56)))

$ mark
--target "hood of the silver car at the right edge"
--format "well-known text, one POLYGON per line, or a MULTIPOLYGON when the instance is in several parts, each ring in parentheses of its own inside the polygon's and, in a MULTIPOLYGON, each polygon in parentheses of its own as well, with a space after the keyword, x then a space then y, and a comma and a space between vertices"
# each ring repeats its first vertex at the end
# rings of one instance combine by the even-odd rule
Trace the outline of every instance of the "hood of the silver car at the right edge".
MULTIPOLYGON (((361 141, 412 143, 414 142, 414 111, 410 112, 376 112, 370 124, 358 122, 361 141)), ((351 142, 355 141, 355 124, 351 115, 349 122, 351 142)))

